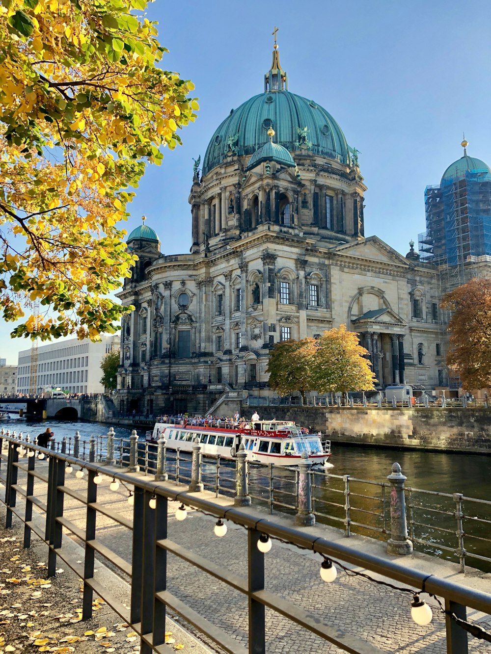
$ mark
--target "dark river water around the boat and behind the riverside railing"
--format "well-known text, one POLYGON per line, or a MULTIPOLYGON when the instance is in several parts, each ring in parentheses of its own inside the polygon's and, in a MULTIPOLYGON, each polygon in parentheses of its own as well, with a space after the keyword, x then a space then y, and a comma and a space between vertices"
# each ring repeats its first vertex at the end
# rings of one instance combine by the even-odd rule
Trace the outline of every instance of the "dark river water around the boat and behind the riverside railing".
MULTIPOLYGON (((75 436, 77 430, 83 440, 88 440, 91 434, 95 436, 107 434, 111 426, 100 422, 84 421, 26 422, 14 417, 1 423, 1 426, 5 429, 16 430, 17 433, 22 431, 24 435, 30 434, 31 438, 43 432, 46 425, 52 428, 57 441, 61 441, 64 436, 67 438, 75 436)), ((145 428, 136 429, 140 438, 144 438, 145 428)), ((131 428, 115 426, 117 438, 129 438, 131 432, 131 428)), ((491 500, 491 456, 488 455, 440 453, 422 450, 410 451, 397 448, 380 449, 367 446, 342 445, 340 443, 333 443, 332 451, 331 463, 333 467, 329 468, 327 472, 335 476, 327 478, 322 473, 315 475, 315 508, 316 513, 326 513, 334 516, 333 520, 319 517, 319 521, 339 528, 344 528, 342 521, 346 517, 346 513, 344 508, 344 481, 337 479, 337 475, 350 475, 350 477, 357 479, 380 483, 387 481, 387 475, 391 473, 391 466, 394 462, 401 465, 402 471, 407 477, 406 487, 448 494, 461 493, 467 498, 491 500)), ((185 468, 187 466, 184 464, 183 469, 185 468)), ((212 468, 212 466, 210 465, 209 468, 212 468)), ((169 470, 169 472, 171 471, 169 470)), ((227 465, 224 462, 221 474, 223 474, 224 479, 229 477, 229 481, 232 481, 232 464, 227 465)), ((278 507, 280 502, 287 501, 291 503, 293 501, 291 495, 287 493, 295 490, 292 483, 294 475, 295 473, 291 470, 278 470, 278 476, 275 477, 274 482, 274 500, 278 507)), ((206 475, 206 466, 204 466, 204 476, 208 476, 206 475)), ((267 470, 264 471, 264 467, 262 467, 262 470, 258 469, 257 472, 251 471, 252 483, 257 484, 255 497, 267 503, 271 494, 268 492, 268 472, 267 470)), ((230 483, 227 483, 227 485, 230 486, 230 483)), ((381 528, 383 526, 382 514, 384 513, 380 501, 382 492, 382 489, 378 486, 351 481, 350 493, 352 495, 350 496, 350 504, 352 513, 350 519, 354 523, 359 521, 369 523, 375 528, 381 528), (374 500, 370 499, 372 496, 374 500)), ((252 489, 251 494, 254 496, 252 489)), ((409 513, 409 521, 412 518, 414 536, 420 540, 435 543, 435 546, 432 547, 418 545, 418 549, 443 555, 450 560, 458 560, 455 555, 446 552, 445 547, 439 549, 438 546, 441 543, 446 547, 454 548, 458 544, 454 535, 456 522, 452 515, 456 508, 454 499, 414 492, 412 500, 407 494, 407 501, 412 501, 414 504, 412 515, 409 513)), ((491 505, 464 501, 464 513, 466 515, 466 521, 464 521, 466 549, 469 552, 489 557, 491 551, 491 505), (475 518, 488 521, 488 524, 475 521, 475 518), (474 536, 477 536, 477 538, 473 538, 474 536)), ((387 514, 388 506, 386 506, 387 514)), ((363 528, 357 529, 355 525, 352 530, 369 536, 377 536, 376 533, 367 532, 363 528)), ((466 563, 491 571, 490 564, 476 562, 473 557, 468 557, 466 563)))

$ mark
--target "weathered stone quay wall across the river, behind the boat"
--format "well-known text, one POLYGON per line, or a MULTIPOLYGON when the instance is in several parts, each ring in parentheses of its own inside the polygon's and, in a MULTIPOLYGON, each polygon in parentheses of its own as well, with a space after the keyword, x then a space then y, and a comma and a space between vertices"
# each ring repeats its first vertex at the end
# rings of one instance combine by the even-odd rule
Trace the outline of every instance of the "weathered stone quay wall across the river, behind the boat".
MULTIPOLYGON (((255 407, 243 406, 250 417, 255 407)), ((491 409, 257 407, 261 419, 295 420, 331 441, 491 455, 491 409)))

